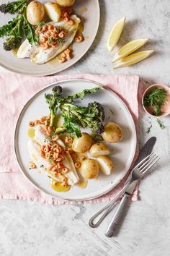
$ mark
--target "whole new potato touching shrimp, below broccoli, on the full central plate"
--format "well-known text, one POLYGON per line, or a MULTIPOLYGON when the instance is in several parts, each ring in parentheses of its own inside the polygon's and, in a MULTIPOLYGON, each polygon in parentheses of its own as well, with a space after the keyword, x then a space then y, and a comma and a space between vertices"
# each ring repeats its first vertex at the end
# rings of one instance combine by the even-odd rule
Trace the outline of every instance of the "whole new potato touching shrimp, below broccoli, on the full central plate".
POLYGON ((86 132, 81 133, 81 137, 75 137, 73 139, 72 149, 78 153, 85 153, 90 149, 92 144, 91 136, 86 132))

